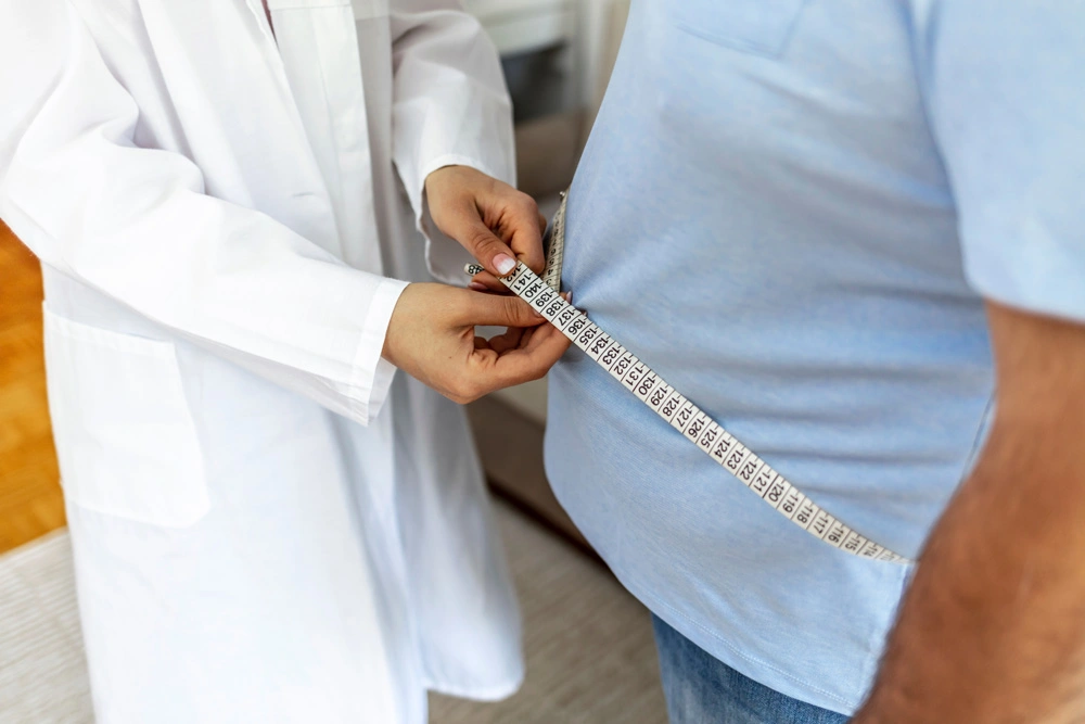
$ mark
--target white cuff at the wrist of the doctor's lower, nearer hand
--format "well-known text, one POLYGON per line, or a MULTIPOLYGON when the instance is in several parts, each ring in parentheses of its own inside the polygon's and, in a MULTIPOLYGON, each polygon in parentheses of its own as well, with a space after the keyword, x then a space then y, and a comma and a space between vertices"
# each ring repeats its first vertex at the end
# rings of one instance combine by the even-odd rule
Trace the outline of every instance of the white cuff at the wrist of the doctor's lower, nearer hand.
POLYGON ((395 365, 382 357, 381 353, 384 351, 392 313, 407 284, 408 282, 398 279, 382 279, 366 315, 350 379, 350 389, 356 391, 354 417, 363 424, 369 424, 380 414, 396 373, 395 365))

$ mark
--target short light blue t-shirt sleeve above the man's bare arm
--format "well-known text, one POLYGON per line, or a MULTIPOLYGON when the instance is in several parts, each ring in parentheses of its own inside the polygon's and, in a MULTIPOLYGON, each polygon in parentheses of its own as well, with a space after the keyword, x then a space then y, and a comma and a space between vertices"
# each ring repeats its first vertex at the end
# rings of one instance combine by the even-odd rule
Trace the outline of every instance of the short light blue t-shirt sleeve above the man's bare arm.
POLYGON ((921 4, 917 54, 969 283, 1085 320, 1085 2, 921 4))

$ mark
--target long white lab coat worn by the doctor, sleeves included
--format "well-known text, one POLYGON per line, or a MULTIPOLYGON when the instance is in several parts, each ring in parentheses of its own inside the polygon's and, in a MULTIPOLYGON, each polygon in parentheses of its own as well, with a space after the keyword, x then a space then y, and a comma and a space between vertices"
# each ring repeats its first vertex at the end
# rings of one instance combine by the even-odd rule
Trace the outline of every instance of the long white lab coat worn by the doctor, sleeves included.
POLYGON ((512 180, 480 26, 451 0, 270 0, 276 37, 260 0, 0 8, 0 216, 43 265, 98 721, 513 691, 464 416, 380 356, 397 280, 429 278, 425 176, 512 180))

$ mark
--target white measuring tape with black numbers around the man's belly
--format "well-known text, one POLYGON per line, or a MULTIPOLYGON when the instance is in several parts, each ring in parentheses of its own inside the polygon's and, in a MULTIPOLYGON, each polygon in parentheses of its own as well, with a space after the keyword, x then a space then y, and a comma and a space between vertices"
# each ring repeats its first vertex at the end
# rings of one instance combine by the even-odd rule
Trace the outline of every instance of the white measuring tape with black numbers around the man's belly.
MULTIPOLYGON (((548 232, 547 263, 539 278, 521 262, 515 271, 501 279, 516 296, 527 302, 547 321, 561 330, 573 344, 610 372, 622 386, 648 405, 671 427, 681 433, 739 482, 749 487, 774 510, 819 541, 859 558, 909 563, 893 552, 845 525, 814 503, 771 466, 754 455, 723 425, 685 395, 667 384, 660 374, 617 340, 561 297, 562 252, 565 241, 565 201, 554 215, 548 232)), ((474 276, 484 268, 469 264, 464 271, 474 276)))

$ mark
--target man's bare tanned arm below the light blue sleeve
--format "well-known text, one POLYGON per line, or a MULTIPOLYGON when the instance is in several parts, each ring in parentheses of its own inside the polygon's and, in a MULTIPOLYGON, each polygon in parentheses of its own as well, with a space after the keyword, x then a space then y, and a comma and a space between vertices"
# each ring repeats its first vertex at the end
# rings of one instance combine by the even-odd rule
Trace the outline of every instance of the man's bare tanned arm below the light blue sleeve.
POLYGON ((987 310, 994 427, 855 724, 1085 721, 1085 326, 987 310))

